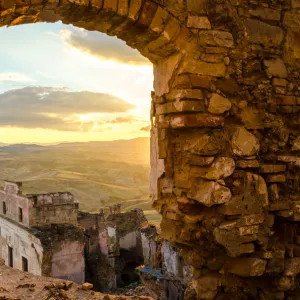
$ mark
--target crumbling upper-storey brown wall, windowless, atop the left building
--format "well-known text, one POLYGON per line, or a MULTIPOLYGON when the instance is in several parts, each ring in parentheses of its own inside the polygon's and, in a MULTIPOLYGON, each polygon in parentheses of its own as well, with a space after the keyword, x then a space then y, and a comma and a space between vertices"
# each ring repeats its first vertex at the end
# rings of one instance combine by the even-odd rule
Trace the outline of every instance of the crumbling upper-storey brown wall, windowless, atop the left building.
POLYGON ((26 195, 32 203, 30 226, 77 224, 78 202, 69 192, 26 195))

